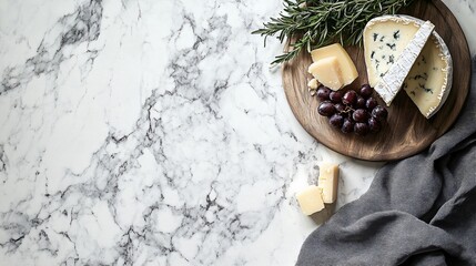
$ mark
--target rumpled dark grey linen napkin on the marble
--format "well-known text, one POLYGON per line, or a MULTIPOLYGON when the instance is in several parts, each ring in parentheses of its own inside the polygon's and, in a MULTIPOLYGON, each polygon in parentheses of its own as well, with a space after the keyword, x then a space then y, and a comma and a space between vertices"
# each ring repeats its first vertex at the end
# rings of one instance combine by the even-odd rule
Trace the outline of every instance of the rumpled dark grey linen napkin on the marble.
POLYGON ((476 265, 476 58, 454 127, 386 164, 367 193, 307 237, 296 265, 476 265))

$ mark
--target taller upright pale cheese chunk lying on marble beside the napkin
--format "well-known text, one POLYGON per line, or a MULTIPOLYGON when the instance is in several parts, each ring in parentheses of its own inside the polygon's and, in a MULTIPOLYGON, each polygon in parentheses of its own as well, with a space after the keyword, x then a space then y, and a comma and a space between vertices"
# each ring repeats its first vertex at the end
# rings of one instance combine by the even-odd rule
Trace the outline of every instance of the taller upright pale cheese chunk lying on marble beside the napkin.
POLYGON ((324 203, 334 203, 337 198, 338 165, 322 163, 317 186, 322 190, 324 203))

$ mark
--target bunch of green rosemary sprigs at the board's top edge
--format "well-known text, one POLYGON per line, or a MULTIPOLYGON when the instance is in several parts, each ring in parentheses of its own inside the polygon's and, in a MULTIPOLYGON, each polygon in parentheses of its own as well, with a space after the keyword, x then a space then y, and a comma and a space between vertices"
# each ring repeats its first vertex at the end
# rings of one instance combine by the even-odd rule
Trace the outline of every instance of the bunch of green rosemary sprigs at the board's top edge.
POLYGON ((341 42, 342 45, 362 44, 365 24, 374 17, 395 14, 414 0, 284 0, 284 10, 271 18, 253 34, 276 35, 281 42, 296 38, 291 50, 272 62, 283 63, 303 49, 311 50, 341 42))

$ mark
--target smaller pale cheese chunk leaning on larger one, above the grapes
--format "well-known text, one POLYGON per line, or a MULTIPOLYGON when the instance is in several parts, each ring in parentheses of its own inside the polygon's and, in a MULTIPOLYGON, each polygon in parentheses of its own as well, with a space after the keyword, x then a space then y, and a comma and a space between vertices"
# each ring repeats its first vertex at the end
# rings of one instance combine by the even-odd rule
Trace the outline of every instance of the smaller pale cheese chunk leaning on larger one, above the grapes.
POLYGON ((312 63, 308 72, 321 82, 321 84, 337 91, 344 85, 341 66, 336 57, 328 57, 312 63))

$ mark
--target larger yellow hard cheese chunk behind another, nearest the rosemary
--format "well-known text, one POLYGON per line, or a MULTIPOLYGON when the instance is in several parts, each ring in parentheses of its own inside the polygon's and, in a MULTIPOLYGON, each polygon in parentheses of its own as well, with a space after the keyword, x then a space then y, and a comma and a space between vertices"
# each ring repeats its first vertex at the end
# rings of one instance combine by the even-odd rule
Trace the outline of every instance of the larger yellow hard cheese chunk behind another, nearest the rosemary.
MULTIPOLYGON (((351 57, 340 43, 315 49, 311 51, 311 57, 313 62, 318 62, 323 59, 335 58, 338 62, 340 76, 342 79, 343 86, 351 84, 358 76, 354 62, 352 62, 351 57)), ((323 83, 322 80, 318 81, 323 83)))

